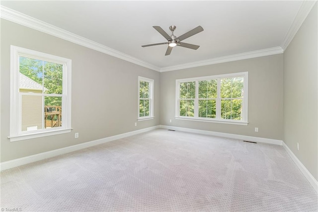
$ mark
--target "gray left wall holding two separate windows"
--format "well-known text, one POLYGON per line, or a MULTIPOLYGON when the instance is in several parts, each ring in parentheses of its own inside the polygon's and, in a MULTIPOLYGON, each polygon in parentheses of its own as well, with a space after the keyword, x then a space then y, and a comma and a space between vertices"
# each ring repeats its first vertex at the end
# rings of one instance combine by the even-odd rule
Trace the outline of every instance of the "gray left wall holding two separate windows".
POLYGON ((159 125, 159 72, 3 19, 0 68, 1 162, 159 125), (7 138, 10 45, 72 59, 71 133, 15 142, 7 138), (155 80, 153 120, 137 121, 138 76, 155 80), (79 132, 77 139, 75 132, 79 132))

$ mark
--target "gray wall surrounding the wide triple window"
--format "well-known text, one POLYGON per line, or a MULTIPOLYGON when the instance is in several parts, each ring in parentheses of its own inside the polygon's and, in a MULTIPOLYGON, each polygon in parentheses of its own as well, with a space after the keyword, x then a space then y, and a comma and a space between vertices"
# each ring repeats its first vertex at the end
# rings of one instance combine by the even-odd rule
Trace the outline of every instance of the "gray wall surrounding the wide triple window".
POLYGON ((233 133, 282 140, 283 55, 271 55, 228 63, 201 66, 160 75, 160 123, 178 127, 233 133), (248 122, 245 125, 175 119, 175 80, 248 72, 248 122), (169 123, 169 119, 172 122, 169 123), (259 132, 254 128, 258 127, 259 132))

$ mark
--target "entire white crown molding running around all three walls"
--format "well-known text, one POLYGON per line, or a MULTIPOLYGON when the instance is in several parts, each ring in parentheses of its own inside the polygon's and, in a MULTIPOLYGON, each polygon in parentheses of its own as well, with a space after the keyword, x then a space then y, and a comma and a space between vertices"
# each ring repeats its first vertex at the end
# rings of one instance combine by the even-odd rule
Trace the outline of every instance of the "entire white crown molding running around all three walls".
POLYGON ((297 33, 298 29, 301 27, 302 23, 306 19, 308 13, 313 8, 317 0, 304 0, 302 6, 300 7, 283 43, 282 47, 277 46, 273 48, 268 49, 261 49, 256 51, 250 51, 250 52, 244 52, 224 57, 218 57, 218 58, 212 58, 208 60, 201 60, 201 61, 195 61, 191 63, 185 63, 185 64, 179 64, 175 66, 166 66, 166 67, 157 67, 153 64, 147 63, 145 61, 142 61, 138 58, 132 57, 130 55, 124 54, 120 51, 117 51, 115 49, 109 48, 105 45, 99 44, 97 42, 94 42, 92 40, 89 40, 87 38, 81 37, 79 35, 76 35, 74 33, 71 33, 69 31, 66 31, 64 29, 61 29, 59 27, 56 27, 52 24, 46 23, 44 21, 38 20, 36 18, 33 18, 31 16, 25 15, 21 12, 12 10, 10 8, 7 8, 5 6, 0 5, 0 17, 18 24, 21 24, 23 26, 62 38, 64 40, 68 40, 70 42, 79 44, 81 46, 85 46, 87 48, 117 57, 119 59, 155 70, 159 72, 167 72, 167 71, 174 71, 179 69, 186 69, 186 68, 193 68, 198 66, 206 66, 206 65, 212 65, 212 64, 218 64, 218 63, 225 63, 225 62, 231 62, 231 61, 237 61, 237 60, 244 60, 244 59, 250 59, 250 58, 256 58, 256 57, 262 57, 262 56, 268 56, 268 55, 274 55, 274 54, 281 54, 284 52, 284 50, 288 47, 291 40, 294 38, 295 34, 297 33))

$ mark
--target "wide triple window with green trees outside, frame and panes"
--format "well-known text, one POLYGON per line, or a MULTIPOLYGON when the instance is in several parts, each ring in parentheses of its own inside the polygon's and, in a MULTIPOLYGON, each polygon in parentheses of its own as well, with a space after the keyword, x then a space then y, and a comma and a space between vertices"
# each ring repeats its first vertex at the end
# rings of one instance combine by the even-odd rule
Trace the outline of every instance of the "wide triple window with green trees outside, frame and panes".
POLYGON ((247 125, 247 72, 176 80, 176 118, 247 125))

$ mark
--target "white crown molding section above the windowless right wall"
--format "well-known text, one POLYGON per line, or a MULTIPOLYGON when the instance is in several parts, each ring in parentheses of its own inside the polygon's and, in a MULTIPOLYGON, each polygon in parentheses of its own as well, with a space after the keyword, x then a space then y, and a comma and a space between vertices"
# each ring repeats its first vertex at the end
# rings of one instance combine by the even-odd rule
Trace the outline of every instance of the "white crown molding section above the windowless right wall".
POLYGON ((298 10, 298 13, 290 26, 285 39, 283 40, 283 43, 281 45, 282 49, 285 51, 290 44, 290 42, 293 40, 294 36, 296 35, 299 28, 302 26, 303 22, 305 21, 307 15, 314 7, 317 0, 304 0, 301 7, 298 10))

